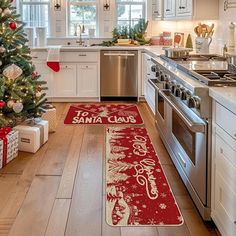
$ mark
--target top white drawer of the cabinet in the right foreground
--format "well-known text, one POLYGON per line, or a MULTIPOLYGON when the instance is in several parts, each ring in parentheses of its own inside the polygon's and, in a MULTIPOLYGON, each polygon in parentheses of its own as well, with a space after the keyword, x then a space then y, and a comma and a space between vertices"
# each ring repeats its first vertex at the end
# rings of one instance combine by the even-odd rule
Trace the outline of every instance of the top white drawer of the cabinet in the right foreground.
POLYGON ((236 114, 219 103, 215 107, 216 123, 236 140, 236 114))

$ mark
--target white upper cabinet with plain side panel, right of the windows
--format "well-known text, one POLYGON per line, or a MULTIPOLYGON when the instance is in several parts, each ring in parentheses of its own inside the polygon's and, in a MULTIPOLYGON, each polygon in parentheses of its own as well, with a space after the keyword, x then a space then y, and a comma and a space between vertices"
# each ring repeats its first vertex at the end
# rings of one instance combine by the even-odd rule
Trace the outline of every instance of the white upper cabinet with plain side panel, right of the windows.
POLYGON ((217 20, 219 18, 219 0, 153 0, 152 7, 153 20, 217 20))

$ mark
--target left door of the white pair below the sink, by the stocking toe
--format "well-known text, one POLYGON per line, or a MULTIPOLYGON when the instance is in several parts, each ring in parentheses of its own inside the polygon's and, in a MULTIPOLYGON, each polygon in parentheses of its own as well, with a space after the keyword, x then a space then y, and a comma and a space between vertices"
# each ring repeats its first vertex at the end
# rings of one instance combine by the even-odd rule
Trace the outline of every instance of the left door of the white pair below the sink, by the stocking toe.
POLYGON ((61 63, 53 76, 54 97, 76 97, 76 64, 61 63))

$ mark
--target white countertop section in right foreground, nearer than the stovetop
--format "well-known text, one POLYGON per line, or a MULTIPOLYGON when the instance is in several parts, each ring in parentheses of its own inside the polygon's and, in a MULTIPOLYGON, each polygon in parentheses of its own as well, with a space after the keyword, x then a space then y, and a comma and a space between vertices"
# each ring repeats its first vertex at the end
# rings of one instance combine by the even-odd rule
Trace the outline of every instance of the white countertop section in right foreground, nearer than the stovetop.
POLYGON ((236 87, 211 87, 210 96, 236 114, 236 87))

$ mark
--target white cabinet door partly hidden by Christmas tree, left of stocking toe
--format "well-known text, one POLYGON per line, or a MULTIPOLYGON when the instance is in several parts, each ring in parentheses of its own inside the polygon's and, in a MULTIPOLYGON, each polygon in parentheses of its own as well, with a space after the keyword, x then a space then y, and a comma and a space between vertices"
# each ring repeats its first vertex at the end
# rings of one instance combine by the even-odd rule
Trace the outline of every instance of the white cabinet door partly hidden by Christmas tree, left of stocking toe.
POLYGON ((35 66, 37 73, 40 75, 40 80, 47 82, 47 84, 43 85, 43 87, 47 87, 48 89, 43 92, 46 93, 46 96, 48 98, 52 97, 53 72, 47 67, 45 62, 33 61, 33 64, 35 66))

